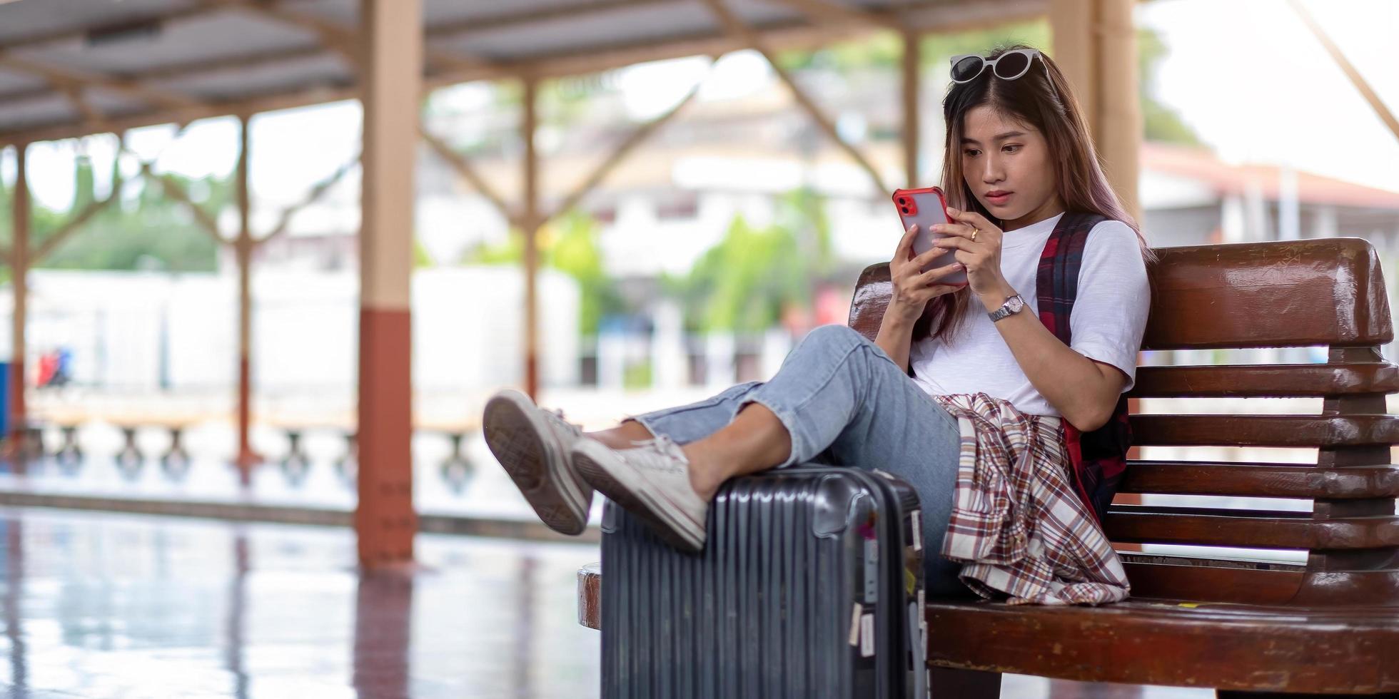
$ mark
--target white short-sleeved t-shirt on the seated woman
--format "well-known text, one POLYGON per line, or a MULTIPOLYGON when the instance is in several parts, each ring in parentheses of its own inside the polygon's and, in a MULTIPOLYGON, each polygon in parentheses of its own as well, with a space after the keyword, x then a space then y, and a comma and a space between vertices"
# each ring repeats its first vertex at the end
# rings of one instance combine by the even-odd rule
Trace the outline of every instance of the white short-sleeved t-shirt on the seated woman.
MULTIPOLYGON (((1000 245, 1000 273, 1025 299, 1021 313, 1039 315, 1035 275, 1039 253, 1059 222, 1059 214, 1037 224, 1007 231, 1000 245)), ((935 396, 986 393, 1009 400, 1027 415, 1059 415, 1039 394, 1016 362, 1000 330, 986 317, 986 309, 972 295, 972 308, 951 344, 940 338, 909 347, 914 380, 935 396)), ((1136 383, 1137 350, 1146 333, 1151 292, 1137 236, 1121 221, 1093 226, 1079 270, 1079 295, 1069 324, 1070 347, 1079 354, 1109 363, 1128 375, 1123 393, 1136 383)), ((1004 322, 1003 322, 1004 323, 1004 322)))

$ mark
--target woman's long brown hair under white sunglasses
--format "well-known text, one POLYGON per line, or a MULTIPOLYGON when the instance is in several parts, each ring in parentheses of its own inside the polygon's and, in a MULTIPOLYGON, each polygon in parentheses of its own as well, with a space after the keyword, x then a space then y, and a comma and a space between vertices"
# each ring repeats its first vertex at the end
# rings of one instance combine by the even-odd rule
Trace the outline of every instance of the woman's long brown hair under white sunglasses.
MULTIPOLYGON (((988 60, 1007 50, 1030 48, 1023 43, 997 46, 988 60)), ((1055 187, 1065 210, 1100 214, 1130 226, 1142 246, 1142 259, 1150 268, 1156 263, 1156 253, 1146 245, 1136 221, 1122 208, 1116 193, 1108 185, 1079 101, 1069 89, 1069 81, 1048 55, 1039 52, 1039 59, 1044 60, 1044 67, 1030 66, 1030 71, 1016 80, 993 77, 986 69, 975 80, 953 82, 947 89, 947 96, 943 98, 943 120, 947 124, 943 189, 947 206, 977 211, 988 221, 996 221, 996 217, 990 215, 990 211, 972 194, 961 169, 961 136, 967 112, 988 105, 1010 119, 1034 126, 1044 134, 1049 145, 1049 158, 1056 164, 1055 187)), ((914 324, 914 341, 942 337, 944 333, 944 340, 954 337, 971 312, 972 301, 971 287, 929 301, 922 317, 914 324)))

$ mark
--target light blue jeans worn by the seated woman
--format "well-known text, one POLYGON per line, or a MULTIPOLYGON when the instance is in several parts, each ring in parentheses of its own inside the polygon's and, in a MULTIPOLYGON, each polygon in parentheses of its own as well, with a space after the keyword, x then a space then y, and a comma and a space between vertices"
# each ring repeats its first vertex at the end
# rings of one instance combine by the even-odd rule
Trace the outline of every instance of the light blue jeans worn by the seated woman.
POLYGON ((765 383, 740 383, 700 403, 630 419, 686 445, 718 432, 750 403, 771 410, 792 436, 792 454, 778 468, 816 460, 880 468, 908 481, 923 506, 928 594, 972 596, 957 579, 961 563, 937 555, 957 487, 957 418, 879 345, 849 327, 821 326, 765 383))

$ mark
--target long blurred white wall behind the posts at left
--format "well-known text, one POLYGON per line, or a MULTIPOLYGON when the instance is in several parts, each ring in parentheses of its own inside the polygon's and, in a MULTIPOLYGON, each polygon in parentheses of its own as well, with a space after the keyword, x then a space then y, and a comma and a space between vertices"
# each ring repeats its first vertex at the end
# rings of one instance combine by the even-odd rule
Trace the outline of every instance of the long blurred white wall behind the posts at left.
MULTIPOLYGON (((523 383, 522 277, 513 267, 414 274, 418 390, 523 383)), ((169 389, 207 390, 232 387, 236 379, 232 278, 36 270, 29 281, 31 366, 41 352, 66 345, 73 350, 78 383, 147 391, 161 389, 164 375, 169 389)), ((578 287, 553 270, 543 270, 539 284, 541 382, 576 383, 578 287)), ((0 289, 0 313, 11 312, 11 289, 0 289)), ((269 394, 350 389, 357 372, 358 313, 354 273, 255 274, 255 387, 269 394)), ((0 356, 10 354, 10 323, 0 324, 0 356)))

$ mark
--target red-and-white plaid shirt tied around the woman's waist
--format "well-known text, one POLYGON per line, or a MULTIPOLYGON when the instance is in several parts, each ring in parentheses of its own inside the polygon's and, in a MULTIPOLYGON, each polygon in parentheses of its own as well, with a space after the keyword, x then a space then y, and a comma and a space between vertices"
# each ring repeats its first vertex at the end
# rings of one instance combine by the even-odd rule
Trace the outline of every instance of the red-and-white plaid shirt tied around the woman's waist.
POLYGON ((933 396, 961 429, 942 555, 1009 604, 1104 604, 1130 593, 1122 561, 1074 493, 1060 419, 985 393, 933 396))

